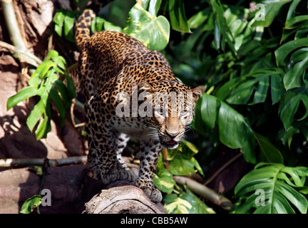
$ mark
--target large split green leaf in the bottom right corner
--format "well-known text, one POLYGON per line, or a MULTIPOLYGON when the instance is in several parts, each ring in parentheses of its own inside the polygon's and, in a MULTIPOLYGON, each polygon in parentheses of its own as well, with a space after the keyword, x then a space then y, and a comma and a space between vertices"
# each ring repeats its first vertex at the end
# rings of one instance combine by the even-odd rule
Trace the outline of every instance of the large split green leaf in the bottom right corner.
POLYGON ((284 167, 282 164, 260 163, 245 175, 235 187, 235 197, 240 197, 236 213, 294 213, 306 214, 308 201, 294 187, 302 187, 308 176, 307 167, 284 167), (287 174, 287 175, 285 175, 287 174), (292 182, 293 177, 297 182, 292 182), (292 182, 292 185, 290 183, 292 182), (264 204, 257 204, 256 191, 262 192, 264 204), (243 202, 244 201, 244 202, 243 202), (243 202, 243 203, 242 203, 243 202))

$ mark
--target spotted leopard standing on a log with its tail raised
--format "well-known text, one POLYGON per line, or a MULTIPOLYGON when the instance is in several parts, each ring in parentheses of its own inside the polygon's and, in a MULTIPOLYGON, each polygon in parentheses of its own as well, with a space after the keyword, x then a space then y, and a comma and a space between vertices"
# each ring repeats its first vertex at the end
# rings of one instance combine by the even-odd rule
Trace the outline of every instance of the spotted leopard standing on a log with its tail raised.
POLYGON ((85 9, 75 28, 88 164, 103 185, 126 180, 151 201, 161 202, 162 193, 153 184, 160 152, 177 148, 183 140, 205 87, 186 86, 162 53, 132 36, 119 31, 91 34, 95 16, 85 9), (122 157, 130 138, 140 143, 139 169, 129 168, 122 157))

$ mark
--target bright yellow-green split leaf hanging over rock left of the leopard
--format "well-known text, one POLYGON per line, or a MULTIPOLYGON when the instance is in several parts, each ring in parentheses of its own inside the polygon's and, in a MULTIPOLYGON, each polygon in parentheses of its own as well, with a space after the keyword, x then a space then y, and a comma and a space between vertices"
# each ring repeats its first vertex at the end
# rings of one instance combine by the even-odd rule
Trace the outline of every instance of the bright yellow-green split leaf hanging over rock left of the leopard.
POLYGON ((51 107, 49 98, 53 100, 56 108, 58 108, 61 125, 63 125, 65 123, 66 110, 71 107, 71 99, 76 96, 73 81, 64 73, 65 68, 66 60, 62 56, 59 56, 57 51, 49 51, 46 60, 31 75, 29 81, 30 86, 20 90, 16 95, 8 99, 7 108, 10 109, 22 100, 31 98, 34 95, 41 97, 26 120, 26 124, 31 131, 37 126, 37 140, 46 138, 47 133, 51 130, 51 107), (65 76, 67 88, 63 82, 58 81, 59 76, 57 73, 65 76))

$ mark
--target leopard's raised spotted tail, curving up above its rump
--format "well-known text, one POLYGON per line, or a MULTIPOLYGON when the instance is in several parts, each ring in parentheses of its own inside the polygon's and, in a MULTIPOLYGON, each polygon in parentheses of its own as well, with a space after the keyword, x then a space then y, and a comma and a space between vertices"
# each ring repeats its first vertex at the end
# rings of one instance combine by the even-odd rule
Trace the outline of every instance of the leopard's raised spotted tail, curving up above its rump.
POLYGON ((91 21, 95 17, 96 14, 92 9, 84 10, 83 14, 79 16, 75 31, 76 45, 79 49, 81 49, 88 38, 90 38, 91 21))

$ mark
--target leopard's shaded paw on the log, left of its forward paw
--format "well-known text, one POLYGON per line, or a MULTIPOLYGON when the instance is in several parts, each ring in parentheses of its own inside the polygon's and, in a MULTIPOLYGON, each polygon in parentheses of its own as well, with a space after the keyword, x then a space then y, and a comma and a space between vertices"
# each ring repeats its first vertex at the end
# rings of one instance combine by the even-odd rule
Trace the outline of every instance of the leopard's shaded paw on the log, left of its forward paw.
POLYGON ((116 180, 127 180, 130 182, 135 182, 138 177, 138 173, 135 170, 110 170, 109 172, 101 172, 101 180, 104 185, 108 185, 116 180))

